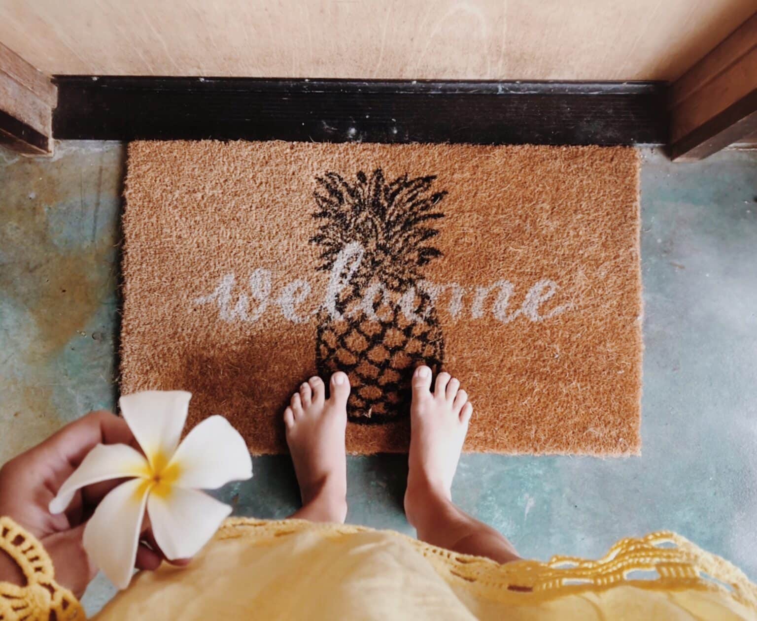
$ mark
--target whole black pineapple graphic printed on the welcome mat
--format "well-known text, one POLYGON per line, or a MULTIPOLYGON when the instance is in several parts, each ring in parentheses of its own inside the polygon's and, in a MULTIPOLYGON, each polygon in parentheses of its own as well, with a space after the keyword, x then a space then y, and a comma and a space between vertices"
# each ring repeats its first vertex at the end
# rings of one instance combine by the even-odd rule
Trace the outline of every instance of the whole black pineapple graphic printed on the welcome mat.
POLYGON ((410 378, 425 364, 444 362, 444 335, 423 269, 441 252, 432 245, 446 191, 435 175, 387 181, 382 169, 355 179, 316 177, 319 270, 341 278, 332 308, 317 314, 319 374, 345 371, 353 386, 347 414, 359 423, 407 415, 410 378), (344 263, 345 256, 348 262, 344 263))

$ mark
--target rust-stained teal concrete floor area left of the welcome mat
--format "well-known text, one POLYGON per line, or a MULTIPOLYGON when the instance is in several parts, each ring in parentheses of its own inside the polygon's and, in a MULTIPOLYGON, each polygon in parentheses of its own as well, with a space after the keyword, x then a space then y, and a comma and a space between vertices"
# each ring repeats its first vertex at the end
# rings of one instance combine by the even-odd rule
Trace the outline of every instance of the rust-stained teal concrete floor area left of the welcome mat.
POLYGON ((123 148, 0 151, 0 463, 112 408, 123 148))

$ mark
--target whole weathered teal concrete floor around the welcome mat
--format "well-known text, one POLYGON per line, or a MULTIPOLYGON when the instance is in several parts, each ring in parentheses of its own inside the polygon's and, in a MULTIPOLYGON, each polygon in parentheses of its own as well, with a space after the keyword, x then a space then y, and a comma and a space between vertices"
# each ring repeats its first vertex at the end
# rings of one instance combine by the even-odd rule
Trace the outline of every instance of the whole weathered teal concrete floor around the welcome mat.
MULTIPOLYGON (((123 145, 0 152, 0 463, 93 408, 114 408, 123 145)), ((594 557, 674 529, 757 579, 757 152, 671 164, 643 151, 643 456, 465 455, 454 495, 526 557, 594 557)), ((191 389, 191 387, 188 387, 191 389)), ((410 533, 397 455, 350 458, 347 521, 410 533)), ((254 460, 220 497, 297 507, 288 458, 254 460)), ((95 582, 90 612, 112 591, 95 582)))

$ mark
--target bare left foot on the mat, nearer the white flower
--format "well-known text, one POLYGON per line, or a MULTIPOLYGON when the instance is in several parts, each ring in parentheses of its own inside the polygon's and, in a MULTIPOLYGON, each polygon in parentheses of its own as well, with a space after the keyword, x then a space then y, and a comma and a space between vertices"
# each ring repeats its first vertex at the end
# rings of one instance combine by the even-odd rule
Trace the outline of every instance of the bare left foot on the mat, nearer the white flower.
POLYGON ((344 430, 350 380, 338 371, 331 396, 320 377, 310 377, 284 411, 286 441, 300 484, 302 508, 292 517, 344 523, 347 517, 347 458, 344 430))

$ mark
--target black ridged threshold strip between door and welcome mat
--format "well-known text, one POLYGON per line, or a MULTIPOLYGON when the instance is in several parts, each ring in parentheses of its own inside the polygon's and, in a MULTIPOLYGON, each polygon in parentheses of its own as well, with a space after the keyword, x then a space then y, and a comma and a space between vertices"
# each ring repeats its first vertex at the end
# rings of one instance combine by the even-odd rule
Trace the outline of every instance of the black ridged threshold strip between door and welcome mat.
POLYGON ((665 144, 663 82, 56 76, 80 140, 665 144))

